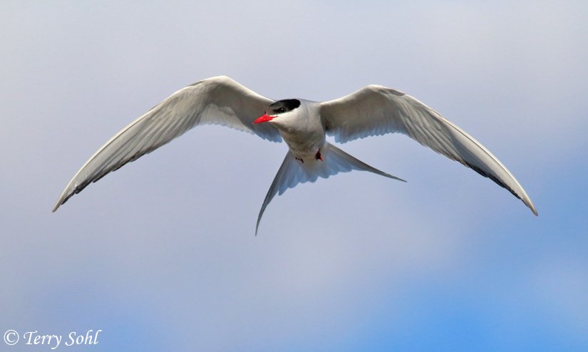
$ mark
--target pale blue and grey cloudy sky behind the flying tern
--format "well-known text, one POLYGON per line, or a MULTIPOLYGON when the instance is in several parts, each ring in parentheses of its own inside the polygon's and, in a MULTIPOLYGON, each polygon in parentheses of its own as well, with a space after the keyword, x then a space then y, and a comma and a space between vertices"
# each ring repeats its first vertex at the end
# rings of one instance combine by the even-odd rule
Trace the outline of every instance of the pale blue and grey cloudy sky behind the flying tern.
POLYGON ((1 2, 2 351, 588 350, 586 1, 206 2, 1 2), (299 185, 256 237, 287 146, 211 125, 51 213, 106 140, 219 75, 413 95, 539 216, 394 134, 339 147, 408 182, 299 185))

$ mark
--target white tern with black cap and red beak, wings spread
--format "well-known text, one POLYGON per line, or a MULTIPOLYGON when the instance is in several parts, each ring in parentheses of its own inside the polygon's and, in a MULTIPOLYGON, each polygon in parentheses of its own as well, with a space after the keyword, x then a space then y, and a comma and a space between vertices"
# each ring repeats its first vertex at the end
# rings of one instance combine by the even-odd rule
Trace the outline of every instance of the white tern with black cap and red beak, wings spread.
POLYGON ((274 101, 225 76, 208 78, 178 90, 110 138, 73 176, 53 212, 90 182, 205 124, 224 125, 272 142, 283 139, 289 147, 259 211, 256 234, 272 198, 299 183, 351 170, 366 170, 401 180, 340 150, 327 142, 325 135, 346 143, 371 135, 404 133, 489 177, 537 215, 525 190, 494 155, 461 128, 408 94, 371 85, 325 103, 303 99, 274 101))

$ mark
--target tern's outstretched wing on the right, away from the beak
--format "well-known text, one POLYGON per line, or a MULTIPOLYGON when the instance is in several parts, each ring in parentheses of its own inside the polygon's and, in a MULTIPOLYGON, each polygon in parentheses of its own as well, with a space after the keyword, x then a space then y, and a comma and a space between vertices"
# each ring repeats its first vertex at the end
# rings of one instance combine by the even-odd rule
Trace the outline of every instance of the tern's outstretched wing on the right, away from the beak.
POLYGON ((386 133, 404 133, 451 160, 505 187, 537 210, 525 190, 502 163, 464 130, 408 94, 382 86, 367 86, 343 98, 321 103, 327 135, 346 143, 386 133))

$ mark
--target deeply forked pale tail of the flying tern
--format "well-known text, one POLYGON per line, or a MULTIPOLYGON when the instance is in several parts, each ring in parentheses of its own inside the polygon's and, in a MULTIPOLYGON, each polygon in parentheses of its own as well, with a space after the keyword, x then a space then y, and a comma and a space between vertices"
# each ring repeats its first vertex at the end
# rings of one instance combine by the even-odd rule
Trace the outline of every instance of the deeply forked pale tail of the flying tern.
POLYGON ((393 178, 394 180, 402 180, 396 176, 388 175, 365 162, 357 160, 355 157, 347 154, 343 150, 335 147, 327 142, 321 149, 322 160, 311 160, 311 162, 301 162, 296 160, 292 151, 288 150, 282 166, 279 167, 278 173, 269 187, 267 195, 265 196, 262 209, 259 210, 257 217, 257 225, 255 227, 255 234, 259 228, 259 222, 262 220, 265 208, 269 205, 276 194, 282 195, 288 188, 294 188, 299 183, 314 182, 319 177, 327 178, 331 175, 336 175, 339 172, 349 172, 351 170, 364 170, 373 172, 378 175, 393 178))

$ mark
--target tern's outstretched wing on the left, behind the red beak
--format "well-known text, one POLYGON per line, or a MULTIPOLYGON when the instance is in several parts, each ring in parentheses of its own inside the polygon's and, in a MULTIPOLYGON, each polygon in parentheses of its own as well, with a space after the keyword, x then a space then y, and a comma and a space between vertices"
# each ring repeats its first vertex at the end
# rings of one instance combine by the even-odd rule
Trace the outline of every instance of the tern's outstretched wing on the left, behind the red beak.
POLYGON ((281 142, 278 130, 269 123, 253 124, 271 103, 273 100, 225 76, 208 78, 180 89, 92 155, 63 190, 53 212, 90 182, 100 180, 108 172, 152 152, 197 125, 224 125, 281 142))

